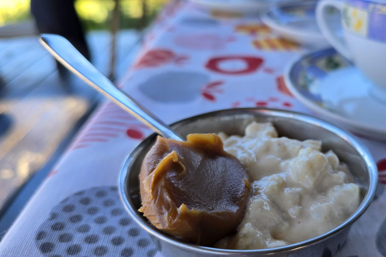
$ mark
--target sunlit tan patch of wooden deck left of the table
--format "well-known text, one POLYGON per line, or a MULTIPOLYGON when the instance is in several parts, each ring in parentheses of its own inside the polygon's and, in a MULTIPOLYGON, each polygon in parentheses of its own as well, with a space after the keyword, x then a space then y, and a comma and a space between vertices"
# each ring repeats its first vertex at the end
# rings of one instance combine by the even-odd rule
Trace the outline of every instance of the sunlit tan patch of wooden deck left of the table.
POLYGON ((0 180, 0 199, 4 202, 44 165, 63 137, 86 112, 88 101, 76 96, 57 95, 41 99, 39 105, 44 108, 43 115, 33 119, 29 131, 0 162, 0 178, 3 178, 0 180))

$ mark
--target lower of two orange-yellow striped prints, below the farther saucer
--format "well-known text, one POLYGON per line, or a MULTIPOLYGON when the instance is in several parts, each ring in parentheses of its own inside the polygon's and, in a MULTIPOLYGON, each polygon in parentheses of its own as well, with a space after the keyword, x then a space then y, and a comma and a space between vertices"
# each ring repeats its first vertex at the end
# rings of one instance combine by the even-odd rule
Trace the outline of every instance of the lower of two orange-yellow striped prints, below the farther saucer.
POLYGON ((281 38, 253 40, 252 46, 262 51, 298 51, 300 47, 291 41, 281 38))

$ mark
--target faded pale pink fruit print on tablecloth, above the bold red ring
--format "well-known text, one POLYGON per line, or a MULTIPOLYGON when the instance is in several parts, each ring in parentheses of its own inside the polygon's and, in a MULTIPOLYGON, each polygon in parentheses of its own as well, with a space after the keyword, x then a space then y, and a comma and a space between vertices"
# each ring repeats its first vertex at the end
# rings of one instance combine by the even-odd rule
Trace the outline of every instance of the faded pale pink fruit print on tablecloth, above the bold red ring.
POLYGON ((217 34, 181 35, 174 39, 174 43, 182 48, 191 50, 219 50, 226 44, 234 42, 234 36, 221 36, 217 34))

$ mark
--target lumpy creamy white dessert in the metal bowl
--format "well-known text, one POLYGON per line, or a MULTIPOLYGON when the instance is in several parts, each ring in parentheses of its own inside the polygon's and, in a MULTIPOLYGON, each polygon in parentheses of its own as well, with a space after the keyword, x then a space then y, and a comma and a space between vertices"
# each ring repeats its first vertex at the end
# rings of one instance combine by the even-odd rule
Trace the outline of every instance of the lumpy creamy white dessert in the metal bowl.
POLYGON ((341 224, 359 205, 359 186, 321 142, 278 138, 271 123, 252 122, 245 136, 220 133, 224 149, 248 170, 253 196, 236 235, 218 248, 261 249, 304 241, 341 224))

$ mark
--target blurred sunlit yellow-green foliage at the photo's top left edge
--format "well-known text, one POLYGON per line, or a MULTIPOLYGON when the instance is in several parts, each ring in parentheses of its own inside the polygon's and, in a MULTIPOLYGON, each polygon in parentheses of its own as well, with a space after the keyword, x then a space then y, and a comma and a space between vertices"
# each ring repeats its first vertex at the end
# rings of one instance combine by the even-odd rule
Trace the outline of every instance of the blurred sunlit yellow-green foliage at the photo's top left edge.
MULTIPOLYGON (((170 0, 146 0, 147 25, 170 0)), ((142 19, 142 0, 120 0, 121 29, 138 28, 142 19)), ((75 9, 85 30, 109 29, 114 0, 76 0, 75 9)), ((0 26, 31 20, 30 0, 0 0, 0 26)))

